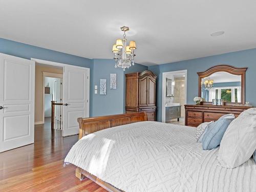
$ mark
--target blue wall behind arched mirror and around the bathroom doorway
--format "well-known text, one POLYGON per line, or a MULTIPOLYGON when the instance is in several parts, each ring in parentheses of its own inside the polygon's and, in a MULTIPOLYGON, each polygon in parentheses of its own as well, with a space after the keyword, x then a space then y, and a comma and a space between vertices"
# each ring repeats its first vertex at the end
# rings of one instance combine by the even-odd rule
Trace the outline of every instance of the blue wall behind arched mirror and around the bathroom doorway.
POLYGON ((256 49, 214 55, 209 57, 166 63, 158 66, 150 66, 157 78, 157 120, 162 120, 162 73, 168 71, 187 70, 187 104, 193 104, 193 98, 198 96, 197 72, 205 71, 216 65, 231 65, 234 67, 248 67, 246 71, 246 101, 256 105, 256 49))

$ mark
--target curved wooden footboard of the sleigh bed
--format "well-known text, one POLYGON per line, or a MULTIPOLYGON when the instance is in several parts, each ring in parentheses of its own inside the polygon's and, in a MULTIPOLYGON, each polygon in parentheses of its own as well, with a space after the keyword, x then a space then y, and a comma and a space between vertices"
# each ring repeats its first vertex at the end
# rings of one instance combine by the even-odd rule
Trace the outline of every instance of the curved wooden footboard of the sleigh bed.
POLYGON ((119 126, 146 120, 147 116, 145 112, 107 115, 91 118, 78 118, 77 121, 79 123, 79 139, 88 134, 104 130, 113 126, 119 126))

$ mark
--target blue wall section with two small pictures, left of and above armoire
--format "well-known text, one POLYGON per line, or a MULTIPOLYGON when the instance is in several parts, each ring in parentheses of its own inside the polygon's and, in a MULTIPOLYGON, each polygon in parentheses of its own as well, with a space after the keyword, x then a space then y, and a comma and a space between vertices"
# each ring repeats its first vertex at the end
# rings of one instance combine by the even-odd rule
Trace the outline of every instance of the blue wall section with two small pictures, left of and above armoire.
POLYGON ((125 74, 146 70, 146 66, 135 63, 124 72, 121 68, 115 68, 113 59, 93 59, 93 84, 91 93, 94 94, 94 86, 98 86, 98 94, 92 97, 92 116, 120 114, 125 111, 125 74), (110 89, 110 74, 117 74, 117 89, 110 89), (106 95, 99 94, 99 80, 106 79, 106 95))

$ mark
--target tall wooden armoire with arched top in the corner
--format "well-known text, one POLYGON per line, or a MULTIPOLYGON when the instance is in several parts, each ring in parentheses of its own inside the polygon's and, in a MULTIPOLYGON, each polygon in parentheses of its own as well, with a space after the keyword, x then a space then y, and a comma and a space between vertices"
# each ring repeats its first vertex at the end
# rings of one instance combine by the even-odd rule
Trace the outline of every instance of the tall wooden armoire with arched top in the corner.
POLYGON ((144 111, 147 120, 156 120, 156 78, 151 71, 125 74, 126 76, 126 113, 144 111))

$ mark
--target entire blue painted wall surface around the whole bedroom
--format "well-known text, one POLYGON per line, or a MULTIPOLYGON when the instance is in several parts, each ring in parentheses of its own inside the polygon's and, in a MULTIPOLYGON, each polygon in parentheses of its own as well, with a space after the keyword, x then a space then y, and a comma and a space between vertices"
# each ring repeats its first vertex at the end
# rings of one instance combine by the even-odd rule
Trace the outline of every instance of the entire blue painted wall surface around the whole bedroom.
POLYGON ((0 52, 27 59, 33 57, 90 68, 90 116, 122 113, 125 110, 125 74, 149 69, 158 76, 157 119, 161 121, 163 72, 187 70, 187 103, 192 104, 194 103, 193 98, 198 94, 197 72, 205 71, 212 66, 220 64, 235 67, 248 67, 246 72, 246 101, 256 105, 256 89, 254 89, 256 82, 256 49, 166 63, 151 67, 135 64, 135 66, 127 69, 125 72, 121 69, 115 69, 115 63, 112 59, 88 59, 3 38, 0 38, 0 52), (109 88, 110 73, 117 73, 117 90, 110 90, 109 88), (107 79, 108 90, 106 96, 99 95, 99 93, 97 95, 94 94, 94 85, 99 85, 100 78, 107 79))

